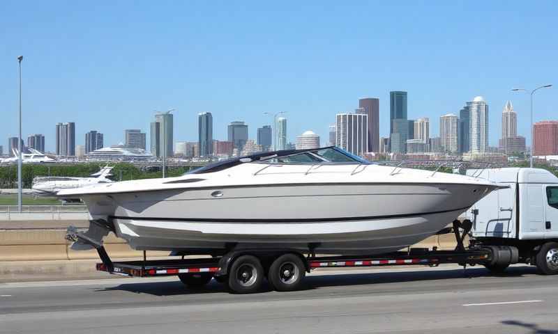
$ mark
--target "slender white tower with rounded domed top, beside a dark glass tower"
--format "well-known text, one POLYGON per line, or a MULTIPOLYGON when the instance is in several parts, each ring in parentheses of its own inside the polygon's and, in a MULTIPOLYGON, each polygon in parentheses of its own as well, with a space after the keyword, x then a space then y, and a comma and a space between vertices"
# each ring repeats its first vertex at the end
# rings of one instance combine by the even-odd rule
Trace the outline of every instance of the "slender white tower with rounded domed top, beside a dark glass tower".
POLYGON ((482 96, 467 102, 469 109, 469 151, 472 154, 488 152, 488 104, 482 96))

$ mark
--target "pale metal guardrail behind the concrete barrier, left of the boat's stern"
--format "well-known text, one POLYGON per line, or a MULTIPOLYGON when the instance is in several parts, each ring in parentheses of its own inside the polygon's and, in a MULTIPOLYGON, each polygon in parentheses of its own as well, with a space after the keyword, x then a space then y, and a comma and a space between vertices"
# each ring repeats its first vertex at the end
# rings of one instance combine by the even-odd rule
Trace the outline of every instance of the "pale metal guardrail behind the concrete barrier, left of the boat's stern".
POLYGON ((0 205, 0 221, 87 220, 85 205, 0 205))

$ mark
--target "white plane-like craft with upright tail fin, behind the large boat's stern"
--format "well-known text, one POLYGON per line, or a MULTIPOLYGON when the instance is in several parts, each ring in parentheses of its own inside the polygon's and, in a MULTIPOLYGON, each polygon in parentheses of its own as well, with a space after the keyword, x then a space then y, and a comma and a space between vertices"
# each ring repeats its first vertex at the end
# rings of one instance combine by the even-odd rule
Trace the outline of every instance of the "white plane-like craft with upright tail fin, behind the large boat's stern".
POLYGON ((89 177, 38 176, 33 178, 31 189, 36 196, 56 196, 64 189, 75 189, 99 183, 111 183, 108 177, 112 167, 105 166, 89 177))

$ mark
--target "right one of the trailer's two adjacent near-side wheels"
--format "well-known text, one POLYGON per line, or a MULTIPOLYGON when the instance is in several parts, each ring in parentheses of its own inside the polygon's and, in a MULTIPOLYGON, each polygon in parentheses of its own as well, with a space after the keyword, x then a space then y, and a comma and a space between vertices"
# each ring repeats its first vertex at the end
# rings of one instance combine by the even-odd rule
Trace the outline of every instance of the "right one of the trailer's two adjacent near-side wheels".
POLYGON ((306 267, 300 257, 285 254, 278 257, 267 274, 267 280, 277 291, 294 291, 301 287, 306 276, 306 267))

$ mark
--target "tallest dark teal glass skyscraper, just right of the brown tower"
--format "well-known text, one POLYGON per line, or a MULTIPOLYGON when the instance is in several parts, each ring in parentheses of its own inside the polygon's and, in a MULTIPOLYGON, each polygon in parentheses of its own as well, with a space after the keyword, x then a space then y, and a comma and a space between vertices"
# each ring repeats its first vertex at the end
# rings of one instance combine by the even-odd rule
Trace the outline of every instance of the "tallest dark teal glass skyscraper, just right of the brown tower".
POLYGON ((389 139, 391 152, 406 152, 409 139, 407 92, 389 92, 389 139))

